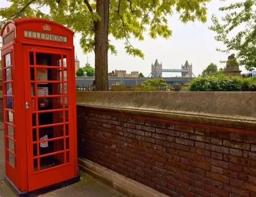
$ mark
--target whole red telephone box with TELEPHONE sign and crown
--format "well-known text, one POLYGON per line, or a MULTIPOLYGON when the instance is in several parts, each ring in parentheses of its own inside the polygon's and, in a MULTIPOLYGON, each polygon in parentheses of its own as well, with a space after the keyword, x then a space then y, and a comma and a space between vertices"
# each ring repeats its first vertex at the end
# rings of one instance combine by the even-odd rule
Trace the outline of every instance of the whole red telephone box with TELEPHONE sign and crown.
POLYGON ((19 196, 79 181, 74 33, 22 18, 1 36, 5 180, 19 196))

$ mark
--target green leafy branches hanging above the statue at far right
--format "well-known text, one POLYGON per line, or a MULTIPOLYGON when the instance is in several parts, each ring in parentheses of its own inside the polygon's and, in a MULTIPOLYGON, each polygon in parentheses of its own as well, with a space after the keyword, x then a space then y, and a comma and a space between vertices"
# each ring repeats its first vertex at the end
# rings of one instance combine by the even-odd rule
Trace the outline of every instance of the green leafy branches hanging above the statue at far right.
POLYGON ((217 33, 215 39, 223 42, 226 49, 221 52, 237 52, 238 64, 247 70, 256 68, 256 0, 241 0, 219 8, 225 16, 218 19, 213 15, 210 29, 217 33), (240 31, 237 31, 241 27, 240 31), (235 35, 235 36, 232 36, 235 35))

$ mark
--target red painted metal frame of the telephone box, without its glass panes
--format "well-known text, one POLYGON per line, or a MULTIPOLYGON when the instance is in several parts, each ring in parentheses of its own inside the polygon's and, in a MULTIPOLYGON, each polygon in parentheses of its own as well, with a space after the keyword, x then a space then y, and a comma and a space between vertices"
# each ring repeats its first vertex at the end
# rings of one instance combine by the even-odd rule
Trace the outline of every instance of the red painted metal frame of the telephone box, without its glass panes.
POLYGON ((78 175, 74 33, 52 21, 34 18, 16 19, 7 22, 2 28, 2 38, 7 37, 13 31, 15 37, 2 47, 5 166, 6 177, 20 192, 27 192, 66 181, 78 175), (58 35, 61 32, 62 36, 67 36, 67 42, 58 43, 24 37, 23 32, 25 30, 43 32, 42 26, 45 24, 51 26, 51 34, 58 35), (6 81, 5 78, 6 69, 9 67, 5 67, 4 60, 5 54, 8 52, 12 53, 11 81, 6 81), (53 63, 48 66, 37 65, 37 53, 51 55, 54 65, 53 63), (32 65, 30 65, 31 54, 33 55, 32 65), (66 66, 64 66, 64 58, 66 58, 66 66), (61 60, 61 64, 58 65, 57 60, 61 60), (51 70, 54 77, 49 81, 37 81, 37 69, 39 68, 51 70), (34 74, 34 79, 31 78, 31 71, 34 74), (64 73, 67 74, 67 79, 64 78, 64 73), (11 96, 7 95, 6 83, 12 83, 11 96), (51 95, 40 96, 37 94, 37 87, 41 83, 51 84, 51 95), (31 94, 32 84, 34 84, 34 95, 31 94), (65 86, 67 93, 65 93, 65 86), (7 97, 13 98, 12 109, 7 108, 7 97), (48 100, 48 102, 53 101, 52 108, 47 110, 38 109, 40 99, 48 100), (65 104, 66 100, 67 105, 65 104), (26 102, 30 104, 28 109, 25 108, 26 102), (7 112, 13 114, 13 124, 8 122, 7 112), (40 114, 47 112, 53 114, 53 122, 40 125, 40 114), (36 117, 35 121, 32 120, 32 117, 36 117), (13 125, 13 138, 8 135, 8 125, 9 127, 13 125), (59 129, 60 127, 62 127, 62 130, 59 129), (46 140, 40 140, 40 130, 49 128, 53 130, 53 136, 46 140), (36 133, 36 139, 34 140, 33 132, 36 133), (8 140, 14 142, 14 166, 8 161, 8 153, 10 152, 8 140), (47 154, 40 153, 39 146, 43 142, 52 143, 52 151, 47 154), (57 154, 63 154, 64 156, 56 156, 57 154), (43 169, 41 158, 51 155, 55 155, 54 159, 56 158, 59 161, 59 165, 43 169), (36 165, 36 168, 34 165, 36 165))

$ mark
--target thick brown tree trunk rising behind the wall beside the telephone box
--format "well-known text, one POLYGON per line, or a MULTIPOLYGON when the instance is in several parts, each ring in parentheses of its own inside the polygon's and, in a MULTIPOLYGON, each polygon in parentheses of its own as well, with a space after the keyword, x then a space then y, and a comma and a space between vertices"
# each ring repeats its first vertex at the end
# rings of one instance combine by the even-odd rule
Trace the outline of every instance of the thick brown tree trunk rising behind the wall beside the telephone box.
POLYGON ((97 0, 96 12, 101 19, 95 23, 95 85, 96 91, 108 91, 107 52, 109 0, 97 0))

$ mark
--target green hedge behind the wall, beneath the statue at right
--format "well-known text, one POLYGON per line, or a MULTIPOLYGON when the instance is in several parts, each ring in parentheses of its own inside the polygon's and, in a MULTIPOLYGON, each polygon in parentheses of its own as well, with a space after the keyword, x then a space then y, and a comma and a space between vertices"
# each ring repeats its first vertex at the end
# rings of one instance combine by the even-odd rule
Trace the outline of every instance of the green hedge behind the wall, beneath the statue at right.
POLYGON ((192 80, 189 91, 256 91, 256 78, 235 78, 226 75, 198 77, 192 80))

